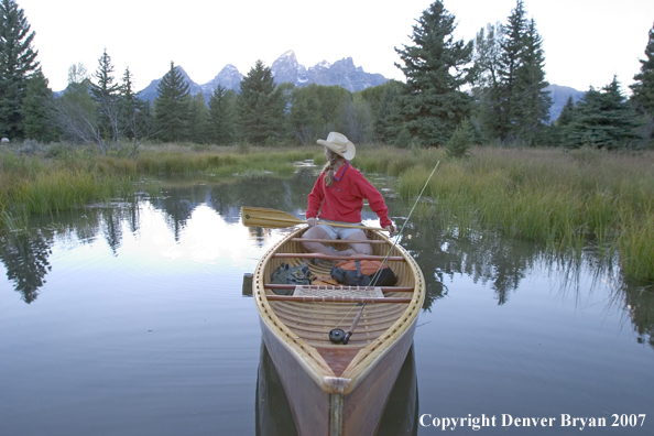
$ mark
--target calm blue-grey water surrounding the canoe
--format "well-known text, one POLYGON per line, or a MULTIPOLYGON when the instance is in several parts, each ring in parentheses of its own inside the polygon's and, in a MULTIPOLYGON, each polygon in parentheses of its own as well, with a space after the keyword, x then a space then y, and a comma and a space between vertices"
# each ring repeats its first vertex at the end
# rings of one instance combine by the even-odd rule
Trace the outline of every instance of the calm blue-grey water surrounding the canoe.
MULTIPOLYGON (((306 174, 167 181, 160 195, 1 235, 0 434, 293 434, 254 304, 241 295, 243 273, 286 230, 246 228, 239 211, 298 215, 312 185, 306 174)), ((403 224, 410 205, 389 205, 403 224)), ((470 417, 446 427, 456 435, 579 434, 562 415, 606 418, 582 434, 654 434, 651 284, 591 253, 556 258, 436 222, 412 219, 401 243, 428 297, 383 434, 442 432, 421 417, 470 417), (622 414, 646 416, 632 427, 622 414), (495 426, 473 430, 482 415, 495 426), (555 419, 502 426, 508 415, 555 419)))

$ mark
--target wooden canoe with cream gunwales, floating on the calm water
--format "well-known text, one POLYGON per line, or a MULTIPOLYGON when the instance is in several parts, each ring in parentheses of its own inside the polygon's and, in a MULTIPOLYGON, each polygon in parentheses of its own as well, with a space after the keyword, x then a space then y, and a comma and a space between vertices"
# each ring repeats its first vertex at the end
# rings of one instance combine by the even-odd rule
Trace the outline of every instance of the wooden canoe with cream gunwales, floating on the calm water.
MULTIPOLYGON (((413 344, 425 281, 415 260, 399 246, 390 253, 395 287, 366 305, 347 345, 329 341, 336 327, 347 330, 360 307, 356 303, 292 301, 270 287, 271 273, 282 263, 306 263, 316 275, 329 276, 331 265, 307 262, 297 229, 270 249, 254 272, 252 294, 262 338, 277 370, 301 435, 362 436, 377 433, 397 373, 413 344), (298 257, 288 257, 288 254, 298 257), (395 291, 396 290, 396 291, 395 291), (389 303, 386 303, 386 301, 389 303)), ((392 242, 366 230, 373 257, 383 258, 392 242)), ((348 248, 335 242, 337 250, 348 248)))

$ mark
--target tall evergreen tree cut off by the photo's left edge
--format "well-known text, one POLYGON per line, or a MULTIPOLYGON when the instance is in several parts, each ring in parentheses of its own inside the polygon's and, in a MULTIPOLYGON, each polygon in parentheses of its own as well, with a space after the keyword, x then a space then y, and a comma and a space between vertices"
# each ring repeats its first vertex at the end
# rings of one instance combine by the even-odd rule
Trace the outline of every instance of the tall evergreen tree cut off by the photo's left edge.
POLYGON ((21 105, 31 74, 39 67, 34 32, 14 0, 0 0, 0 135, 23 138, 21 105))

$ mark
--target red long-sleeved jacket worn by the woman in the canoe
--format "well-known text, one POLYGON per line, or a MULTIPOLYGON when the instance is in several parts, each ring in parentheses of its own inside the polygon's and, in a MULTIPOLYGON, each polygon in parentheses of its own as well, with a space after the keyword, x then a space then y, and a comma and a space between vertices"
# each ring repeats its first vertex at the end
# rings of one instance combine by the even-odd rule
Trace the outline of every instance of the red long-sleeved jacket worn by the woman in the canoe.
POLYGON ((391 226, 389 208, 384 198, 359 170, 346 161, 334 175, 331 186, 325 185, 325 173, 320 174, 308 196, 307 218, 320 218, 331 221, 361 222, 363 198, 380 219, 381 227, 391 226))

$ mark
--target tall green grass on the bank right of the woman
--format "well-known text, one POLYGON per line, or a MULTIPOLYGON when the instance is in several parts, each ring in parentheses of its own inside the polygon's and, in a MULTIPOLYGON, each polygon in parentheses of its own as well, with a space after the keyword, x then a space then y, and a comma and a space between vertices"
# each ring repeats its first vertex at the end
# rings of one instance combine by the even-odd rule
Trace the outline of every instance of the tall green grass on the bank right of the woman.
MULTIPOLYGON (((425 192, 435 203, 422 214, 557 250, 617 250, 628 275, 654 280, 654 155, 579 153, 588 155, 487 148, 468 160, 445 160, 425 192)), ((400 194, 415 196, 429 171, 425 163, 401 174, 400 194)))

